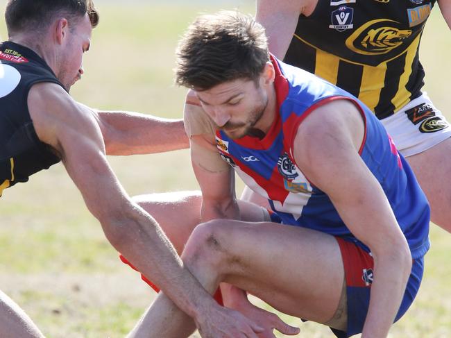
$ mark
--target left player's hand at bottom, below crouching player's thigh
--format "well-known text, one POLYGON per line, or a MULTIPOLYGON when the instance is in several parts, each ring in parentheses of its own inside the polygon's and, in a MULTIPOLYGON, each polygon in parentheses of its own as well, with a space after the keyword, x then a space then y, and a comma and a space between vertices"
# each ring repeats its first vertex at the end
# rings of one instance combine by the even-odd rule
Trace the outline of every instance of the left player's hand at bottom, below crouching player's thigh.
POLYGON ((196 321, 203 338, 258 338, 264 328, 243 314, 215 304, 196 321))

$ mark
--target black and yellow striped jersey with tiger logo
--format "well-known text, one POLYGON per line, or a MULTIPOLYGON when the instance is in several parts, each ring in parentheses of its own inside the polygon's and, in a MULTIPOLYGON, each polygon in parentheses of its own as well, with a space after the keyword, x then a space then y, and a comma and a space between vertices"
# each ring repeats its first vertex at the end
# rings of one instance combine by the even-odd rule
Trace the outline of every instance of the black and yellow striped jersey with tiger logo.
POLYGON ((312 15, 300 15, 284 61, 357 96, 383 119, 421 94, 418 47, 435 3, 318 0, 312 15))

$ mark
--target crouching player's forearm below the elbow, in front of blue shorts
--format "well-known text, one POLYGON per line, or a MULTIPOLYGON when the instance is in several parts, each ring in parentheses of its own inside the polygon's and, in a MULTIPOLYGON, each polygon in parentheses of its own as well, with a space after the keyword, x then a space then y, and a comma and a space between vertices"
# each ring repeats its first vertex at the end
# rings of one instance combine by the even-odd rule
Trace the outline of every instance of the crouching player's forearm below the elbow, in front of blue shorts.
POLYGON ((411 271, 407 250, 387 251, 375 256, 370 306, 361 337, 386 337, 398 313, 411 271))

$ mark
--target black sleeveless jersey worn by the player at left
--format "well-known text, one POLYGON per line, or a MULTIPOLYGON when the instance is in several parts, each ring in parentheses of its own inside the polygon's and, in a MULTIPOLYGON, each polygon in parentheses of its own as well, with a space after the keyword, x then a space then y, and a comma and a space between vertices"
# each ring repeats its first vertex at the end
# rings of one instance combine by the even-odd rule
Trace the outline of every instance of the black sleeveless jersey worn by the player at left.
POLYGON ((28 112, 35 83, 58 81, 34 51, 12 42, 0 44, 0 196, 4 189, 60 159, 38 139, 28 112))

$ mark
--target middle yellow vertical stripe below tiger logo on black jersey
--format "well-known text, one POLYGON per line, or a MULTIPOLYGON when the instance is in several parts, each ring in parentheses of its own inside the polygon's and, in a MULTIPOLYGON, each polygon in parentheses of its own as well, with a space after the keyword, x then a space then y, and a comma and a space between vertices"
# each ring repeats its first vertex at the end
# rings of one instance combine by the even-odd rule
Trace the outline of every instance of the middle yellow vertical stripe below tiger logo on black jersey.
POLYGON ((380 92, 384 87, 386 63, 377 67, 364 66, 361 74, 359 100, 365 103, 374 112, 380 100, 380 92))

